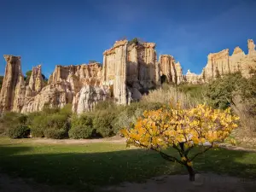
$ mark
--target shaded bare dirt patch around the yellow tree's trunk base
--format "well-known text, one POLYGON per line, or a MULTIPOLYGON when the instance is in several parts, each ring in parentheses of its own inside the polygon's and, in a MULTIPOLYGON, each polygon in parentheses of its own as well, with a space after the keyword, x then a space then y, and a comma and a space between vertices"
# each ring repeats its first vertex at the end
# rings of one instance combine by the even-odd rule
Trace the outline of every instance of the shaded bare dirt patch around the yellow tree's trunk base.
POLYGON ((256 182, 238 177, 206 173, 189 182, 188 175, 162 176, 149 179, 146 183, 123 183, 105 189, 114 192, 255 192, 256 182))

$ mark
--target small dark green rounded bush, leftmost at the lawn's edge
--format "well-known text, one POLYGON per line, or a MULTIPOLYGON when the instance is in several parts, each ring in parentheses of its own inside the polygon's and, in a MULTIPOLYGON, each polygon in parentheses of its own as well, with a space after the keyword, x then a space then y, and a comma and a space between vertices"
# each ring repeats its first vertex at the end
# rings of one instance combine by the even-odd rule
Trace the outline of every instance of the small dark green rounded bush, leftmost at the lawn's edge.
POLYGON ((29 137, 30 130, 26 125, 18 125, 15 127, 10 127, 8 131, 8 136, 10 138, 27 138, 29 137))

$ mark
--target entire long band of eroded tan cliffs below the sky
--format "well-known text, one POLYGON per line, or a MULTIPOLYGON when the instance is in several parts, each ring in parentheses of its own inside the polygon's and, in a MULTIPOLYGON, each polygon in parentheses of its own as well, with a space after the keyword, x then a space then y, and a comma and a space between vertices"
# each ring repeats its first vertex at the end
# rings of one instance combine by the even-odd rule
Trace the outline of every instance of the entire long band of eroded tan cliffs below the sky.
POLYGON ((32 68, 29 84, 21 73, 20 56, 4 55, 7 62, 0 92, 0 113, 15 111, 30 113, 44 106, 62 108, 73 103, 73 112, 92 110, 97 102, 108 98, 119 104, 138 101, 143 93, 160 85, 160 76, 166 75, 169 83, 201 84, 227 73, 241 71, 249 76, 250 67, 256 67, 255 44, 247 41, 248 54, 236 47, 211 53, 207 65, 197 75, 183 69, 172 55, 156 58, 154 43, 116 41, 113 48, 103 53, 100 63, 55 67, 48 84, 43 87, 41 66, 32 68))

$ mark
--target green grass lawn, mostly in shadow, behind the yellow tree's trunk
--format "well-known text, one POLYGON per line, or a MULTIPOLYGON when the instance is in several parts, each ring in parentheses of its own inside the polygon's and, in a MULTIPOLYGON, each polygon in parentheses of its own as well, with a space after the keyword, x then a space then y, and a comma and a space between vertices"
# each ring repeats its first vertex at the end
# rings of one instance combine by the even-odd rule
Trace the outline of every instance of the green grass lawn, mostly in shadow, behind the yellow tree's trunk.
MULTIPOLYGON (((159 154, 127 149, 121 143, 40 144, 32 141, 0 137, 1 172, 81 190, 125 181, 140 182, 165 174, 187 174, 183 167, 163 160, 159 154)), ((199 156, 194 165, 197 172, 256 179, 256 153, 253 152, 212 150, 199 156)))

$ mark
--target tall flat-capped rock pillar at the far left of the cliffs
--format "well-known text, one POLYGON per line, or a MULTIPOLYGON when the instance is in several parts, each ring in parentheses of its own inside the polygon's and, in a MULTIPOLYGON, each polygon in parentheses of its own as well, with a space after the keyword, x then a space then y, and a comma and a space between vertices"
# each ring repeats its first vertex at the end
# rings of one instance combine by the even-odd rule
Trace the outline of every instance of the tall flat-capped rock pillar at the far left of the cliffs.
POLYGON ((25 83, 21 73, 20 56, 3 55, 7 62, 0 92, 0 112, 19 111, 24 103, 25 83))

